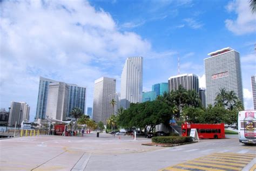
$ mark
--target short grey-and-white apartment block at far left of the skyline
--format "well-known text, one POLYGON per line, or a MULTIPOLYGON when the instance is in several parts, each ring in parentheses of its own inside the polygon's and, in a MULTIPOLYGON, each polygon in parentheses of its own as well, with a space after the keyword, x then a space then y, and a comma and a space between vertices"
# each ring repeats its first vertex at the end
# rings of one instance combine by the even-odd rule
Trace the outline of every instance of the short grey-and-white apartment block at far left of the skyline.
POLYGON ((30 107, 25 102, 12 101, 8 125, 15 126, 15 122, 17 121, 17 125, 20 126, 23 120, 29 120, 29 111, 30 107))

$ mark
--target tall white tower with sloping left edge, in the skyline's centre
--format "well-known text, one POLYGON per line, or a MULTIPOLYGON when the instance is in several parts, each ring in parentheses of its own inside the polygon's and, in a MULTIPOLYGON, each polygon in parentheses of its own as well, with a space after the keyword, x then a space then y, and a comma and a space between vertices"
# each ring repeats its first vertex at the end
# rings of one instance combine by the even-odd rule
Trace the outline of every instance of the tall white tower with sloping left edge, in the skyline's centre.
POLYGON ((129 108, 130 103, 142 102, 143 57, 126 59, 122 76, 120 105, 129 108))

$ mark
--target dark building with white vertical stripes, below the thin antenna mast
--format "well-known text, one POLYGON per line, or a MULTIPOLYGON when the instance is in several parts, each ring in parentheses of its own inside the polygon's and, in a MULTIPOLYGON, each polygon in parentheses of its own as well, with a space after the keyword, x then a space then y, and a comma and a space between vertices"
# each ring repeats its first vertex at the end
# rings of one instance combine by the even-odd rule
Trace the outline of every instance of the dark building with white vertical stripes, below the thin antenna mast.
POLYGON ((196 74, 179 74, 172 76, 168 80, 169 91, 177 90, 179 85, 183 86, 185 90, 195 90, 199 93, 199 79, 196 74))

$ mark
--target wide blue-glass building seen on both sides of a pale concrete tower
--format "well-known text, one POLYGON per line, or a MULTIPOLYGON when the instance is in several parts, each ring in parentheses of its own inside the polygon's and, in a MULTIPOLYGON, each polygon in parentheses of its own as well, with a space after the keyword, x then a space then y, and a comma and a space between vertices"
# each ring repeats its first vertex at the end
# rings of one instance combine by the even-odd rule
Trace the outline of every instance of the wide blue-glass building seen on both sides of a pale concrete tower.
MULTIPOLYGON (((40 77, 39 91, 37 99, 37 110, 35 119, 45 119, 46 104, 48 99, 48 90, 50 83, 58 83, 59 81, 40 77)), ((76 84, 67 84, 69 86, 69 100, 66 111, 66 117, 71 117, 70 113, 73 108, 79 107, 83 113, 86 108, 86 87, 80 87, 76 84)))

